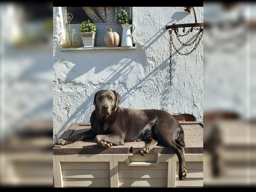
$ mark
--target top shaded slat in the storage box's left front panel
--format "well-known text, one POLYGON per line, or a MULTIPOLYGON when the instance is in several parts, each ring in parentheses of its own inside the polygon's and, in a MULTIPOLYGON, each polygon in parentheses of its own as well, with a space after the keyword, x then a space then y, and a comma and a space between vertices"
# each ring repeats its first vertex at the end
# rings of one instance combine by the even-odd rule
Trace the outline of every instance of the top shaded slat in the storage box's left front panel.
POLYGON ((107 169, 109 170, 108 162, 61 162, 62 170, 64 169, 107 169))

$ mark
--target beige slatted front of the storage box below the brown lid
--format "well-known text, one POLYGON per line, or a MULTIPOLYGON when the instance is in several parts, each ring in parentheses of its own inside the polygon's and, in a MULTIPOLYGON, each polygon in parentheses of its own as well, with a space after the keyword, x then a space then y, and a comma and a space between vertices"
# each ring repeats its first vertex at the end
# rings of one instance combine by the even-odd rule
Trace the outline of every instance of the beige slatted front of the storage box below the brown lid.
MULTIPOLYGON (((171 154, 140 156, 118 155, 55 155, 56 174, 60 187, 202 187, 203 154, 186 154, 187 179, 179 181, 178 158, 171 154), (149 166, 128 166, 149 163, 149 166), (59 165, 57 164, 59 162, 59 165), (169 165, 169 166, 168 166, 169 165), (171 165, 171 166, 170 166, 171 165), (59 167, 59 168, 58 168, 59 167), (59 169, 59 170, 58 170, 59 169), (112 170, 112 173, 111 173, 112 170), (60 178, 59 178, 60 174, 60 178), (170 179, 170 181, 169 181, 170 179), (101 181, 103 180, 103 181, 101 181), (185 182, 186 181, 186 182, 185 182), (101 184, 102 183, 102 184, 101 184)), ((59 186, 59 184, 57 185, 59 186)), ((56 185, 56 182, 55 182, 56 185)), ((56 186, 57 186, 56 185, 56 186)))

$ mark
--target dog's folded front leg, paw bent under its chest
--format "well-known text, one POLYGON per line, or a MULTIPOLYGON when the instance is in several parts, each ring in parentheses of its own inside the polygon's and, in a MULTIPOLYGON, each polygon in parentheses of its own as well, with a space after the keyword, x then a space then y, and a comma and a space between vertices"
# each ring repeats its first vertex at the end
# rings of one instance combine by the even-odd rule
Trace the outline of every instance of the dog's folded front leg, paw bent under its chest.
POLYGON ((97 135, 95 142, 102 148, 110 148, 113 145, 124 145, 124 138, 116 133, 108 135, 97 135))

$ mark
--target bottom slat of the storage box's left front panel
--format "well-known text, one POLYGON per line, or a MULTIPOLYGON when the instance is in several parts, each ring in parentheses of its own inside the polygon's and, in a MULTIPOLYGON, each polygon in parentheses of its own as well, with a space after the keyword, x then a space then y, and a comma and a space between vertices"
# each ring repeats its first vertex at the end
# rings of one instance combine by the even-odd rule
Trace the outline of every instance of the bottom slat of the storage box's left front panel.
POLYGON ((109 178, 100 179, 78 179, 78 178, 63 178, 63 186, 89 186, 89 187, 107 187, 110 186, 109 178))

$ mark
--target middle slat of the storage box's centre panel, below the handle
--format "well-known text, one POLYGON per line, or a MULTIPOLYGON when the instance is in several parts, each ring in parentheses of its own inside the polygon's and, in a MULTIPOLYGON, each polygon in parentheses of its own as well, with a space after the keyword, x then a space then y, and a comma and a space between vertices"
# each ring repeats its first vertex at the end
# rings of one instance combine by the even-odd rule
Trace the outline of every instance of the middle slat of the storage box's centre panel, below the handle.
POLYGON ((119 178, 167 178, 167 170, 119 170, 119 178))

